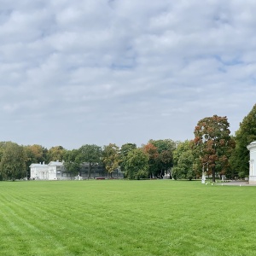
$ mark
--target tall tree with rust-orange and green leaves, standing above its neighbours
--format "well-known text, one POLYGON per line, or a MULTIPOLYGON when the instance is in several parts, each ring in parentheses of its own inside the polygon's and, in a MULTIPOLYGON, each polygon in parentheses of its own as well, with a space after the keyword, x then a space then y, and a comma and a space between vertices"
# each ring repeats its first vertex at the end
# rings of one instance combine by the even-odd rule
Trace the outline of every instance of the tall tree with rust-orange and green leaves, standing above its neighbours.
POLYGON ((235 147, 229 127, 227 117, 218 115, 201 119, 195 126, 194 149, 201 165, 208 163, 212 182, 215 182, 215 172, 224 173, 229 168, 230 154, 235 147))

